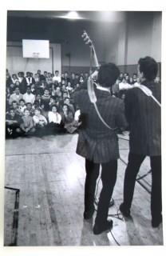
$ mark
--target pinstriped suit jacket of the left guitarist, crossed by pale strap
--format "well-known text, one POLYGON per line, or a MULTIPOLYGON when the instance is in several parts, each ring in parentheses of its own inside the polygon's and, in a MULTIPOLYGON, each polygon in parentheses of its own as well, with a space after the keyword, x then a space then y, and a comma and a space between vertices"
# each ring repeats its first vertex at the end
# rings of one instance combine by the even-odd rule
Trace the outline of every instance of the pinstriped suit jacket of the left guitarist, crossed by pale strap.
MULTIPOLYGON (((114 98, 107 91, 95 89, 97 107, 102 118, 112 128, 127 126, 124 117, 124 102, 114 98)), ((109 162, 119 158, 118 138, 114 130, 109 130, 98 118, 93 103, 89 101, 87 90, 74 93, 74 101, 80 107, 82 129, 77 142, 77 154, 96 163, 109 162)))

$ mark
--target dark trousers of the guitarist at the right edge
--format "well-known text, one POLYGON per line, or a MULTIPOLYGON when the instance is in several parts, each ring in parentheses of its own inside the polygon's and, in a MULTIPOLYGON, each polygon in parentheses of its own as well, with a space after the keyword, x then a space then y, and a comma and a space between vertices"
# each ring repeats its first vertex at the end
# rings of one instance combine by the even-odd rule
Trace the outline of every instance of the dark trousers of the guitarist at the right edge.
MULTIPOLYGON (((128 166, 124 175, 124 208, 130 209, 134 187, 136 183, 136 175, 140 170, 140 165, 144 161, 145 156, 141 154, 128 154, 128 166)), ((152 219, 160 218, 162 212, 161 203, 161 156, 151 156, 150 164, 152 170, 152 191, 151 191, 151 214, 152 219)))

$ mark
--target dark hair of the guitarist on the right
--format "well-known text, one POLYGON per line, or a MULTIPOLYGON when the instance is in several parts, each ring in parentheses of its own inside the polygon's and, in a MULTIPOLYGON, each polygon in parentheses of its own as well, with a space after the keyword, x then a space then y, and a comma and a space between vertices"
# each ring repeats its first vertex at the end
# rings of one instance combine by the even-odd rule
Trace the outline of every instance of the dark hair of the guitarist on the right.
POLYGON ((147 80, 154 80, 158 71, 157 62, 152 57, 140 58, 138 61, 140 65, 140 72, 143 72, 144 78, 147 80))

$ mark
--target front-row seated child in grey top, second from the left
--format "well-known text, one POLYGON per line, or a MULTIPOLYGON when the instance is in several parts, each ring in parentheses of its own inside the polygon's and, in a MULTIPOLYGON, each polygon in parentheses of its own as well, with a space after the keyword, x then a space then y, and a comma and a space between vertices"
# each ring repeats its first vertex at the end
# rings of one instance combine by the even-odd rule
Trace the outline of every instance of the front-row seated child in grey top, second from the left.
POLYGON ((30 116, 30 111, 27 109, 24 110, 20 128, 23 135, 32 135, 35 132, 33 118, 30 116))

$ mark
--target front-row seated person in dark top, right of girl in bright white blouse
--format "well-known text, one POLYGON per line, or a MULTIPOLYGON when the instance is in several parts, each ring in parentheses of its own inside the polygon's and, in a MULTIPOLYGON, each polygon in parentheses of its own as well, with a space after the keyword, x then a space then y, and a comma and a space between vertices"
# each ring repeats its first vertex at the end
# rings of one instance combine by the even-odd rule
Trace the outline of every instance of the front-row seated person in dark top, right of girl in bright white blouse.
POLYGON ((61 114, 61 122, 65 130, 69 134, 73 134, 73 132, 77 130, 77 126, 73 118, 73 113, 71 110, 69 110, 69 106, 67 104, 63 104, 60 114, 61 114))

